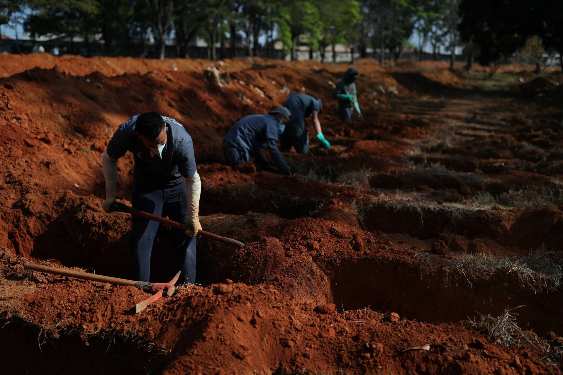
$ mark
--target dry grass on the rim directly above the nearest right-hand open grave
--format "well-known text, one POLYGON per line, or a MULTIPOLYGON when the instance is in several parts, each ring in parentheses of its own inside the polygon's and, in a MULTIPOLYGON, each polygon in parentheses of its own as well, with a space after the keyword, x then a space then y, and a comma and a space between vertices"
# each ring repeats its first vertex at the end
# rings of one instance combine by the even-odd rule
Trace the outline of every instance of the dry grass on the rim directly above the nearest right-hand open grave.
POLYGON ((525 257, 494 257, 484 253, 468 254, 454 263, 465 274, 468 269, 485 273, 504 272, 514 274, 524 286, 536 291, 538 284, 546 288, 560 288, 563 279, 563 261, 558 253, 547 251, 544 246, 525 257))

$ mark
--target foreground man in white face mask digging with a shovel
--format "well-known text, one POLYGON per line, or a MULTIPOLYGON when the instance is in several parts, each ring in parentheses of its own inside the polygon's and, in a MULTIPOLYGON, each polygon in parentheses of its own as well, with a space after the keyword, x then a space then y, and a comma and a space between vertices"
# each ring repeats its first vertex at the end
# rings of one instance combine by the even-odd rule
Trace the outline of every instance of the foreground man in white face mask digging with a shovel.
MULTIPOLYGON (((156 112, 135 115, 119 125, 102 157, 109 211, 117 196, 117 161, 133 154, 134 209, 186 223, 190 229, 172 229, 171 277, 181 270, 180 282, 195 282, 195 236, 199 224, 201 183, 195 167, 194 147, 186 129, 175 119, 156 112)), ((132 217, 129 257, 132 278, 149 281, 150 255, 159 223, 132 217)))

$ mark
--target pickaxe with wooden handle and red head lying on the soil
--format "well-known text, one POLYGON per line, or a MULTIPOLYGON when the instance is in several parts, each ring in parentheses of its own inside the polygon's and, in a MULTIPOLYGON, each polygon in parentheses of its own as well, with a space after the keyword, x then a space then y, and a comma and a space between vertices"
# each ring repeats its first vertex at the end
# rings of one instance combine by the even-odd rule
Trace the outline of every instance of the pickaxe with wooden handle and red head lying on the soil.
POLYGON ((32 270, 32 271, 37 271, 37 272, 52 273, 52 274, 55 274, 55 275, 74 277, 74 278, 77 278, 77 279, 97 281, 97 282, 101 282, 101 283, 134 286, 134 287, 137 287, 137 288, 141 288, 145 292, 154 293, 148 299, 146 299, 142 302, 139 302, 138 304, 135 305, 135 314, 144 310, 151 303, 153 303, 154 301, 156 301, 160 297, 162 297, 162 293, 164 292, 164 289, 166 289, 166 295, 168 297, 171 296, 174 293, 174 291, 176 290, 174 284, 176 283, 176 281, 178 281, 178 277, 180 277, 180 271, 178 271, 176 276, 171 281, 169 281, 167 283, 148 283, 148 282, 144 282, 144 281, 134 281, 134 280, 127 280, 127 279, 120 279, 120 278, 117 278, 117 277, 96 275, 96 274, 93 274, 93 273, 73 271, 73 270, 64 269, 64 268, 55 268, 55 267, 50 267, 50 266, 46 266, 46 265, 38 265, 38 264, 33 264, 33 263, 24 264, 24 268, 32 270))

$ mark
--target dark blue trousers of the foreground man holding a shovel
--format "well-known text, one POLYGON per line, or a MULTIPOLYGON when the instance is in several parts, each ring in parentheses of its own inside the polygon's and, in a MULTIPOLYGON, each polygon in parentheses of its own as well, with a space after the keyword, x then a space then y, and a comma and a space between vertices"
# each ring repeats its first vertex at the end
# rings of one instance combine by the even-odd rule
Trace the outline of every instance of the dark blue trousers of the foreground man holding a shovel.
MULTIPOLYGON (((171 187, 155 187, 133 180, 134 209, 148 212, 184 223, 187 219, 186 183, 182 181, 171 187)), ((154 237, 160 223, 154 220, 132 216, 129 257, 133 279, 149 281, 150 255, 154 237)), ((181 229, 172 229, 171 244, 166 251, 171 252, 170 278, 182 271, 179 283, 195 282, 195 238, 187 236, 181 229)))

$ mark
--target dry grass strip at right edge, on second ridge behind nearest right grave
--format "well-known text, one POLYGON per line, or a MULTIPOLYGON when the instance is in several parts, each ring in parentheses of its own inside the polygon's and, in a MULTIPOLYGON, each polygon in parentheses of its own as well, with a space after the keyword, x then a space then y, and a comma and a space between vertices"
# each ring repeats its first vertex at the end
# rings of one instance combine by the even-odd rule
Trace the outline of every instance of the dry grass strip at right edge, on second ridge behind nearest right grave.
POLYGON ((563 189, 520 189, 509 190, 497 196, 482 191, 466 202, 469 205, 490 208, 501 206, 506 209, 519 207, 539 207, 563 204, 563 189))

